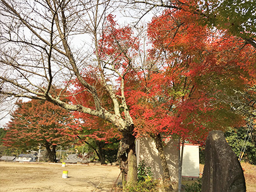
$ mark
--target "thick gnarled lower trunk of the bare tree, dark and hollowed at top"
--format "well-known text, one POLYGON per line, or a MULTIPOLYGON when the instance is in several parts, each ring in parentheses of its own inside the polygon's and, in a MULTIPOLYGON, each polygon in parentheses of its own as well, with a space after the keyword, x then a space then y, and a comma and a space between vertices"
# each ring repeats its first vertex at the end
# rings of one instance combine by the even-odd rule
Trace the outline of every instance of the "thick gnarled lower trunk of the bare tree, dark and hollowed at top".
POLYGON ((125 131, 122 134, 123 138, 119 143, 118 157, 123 188, 125 188, 127 183, 137 183, 137 157, 135 153, 135 136, 132 131, 125 131))

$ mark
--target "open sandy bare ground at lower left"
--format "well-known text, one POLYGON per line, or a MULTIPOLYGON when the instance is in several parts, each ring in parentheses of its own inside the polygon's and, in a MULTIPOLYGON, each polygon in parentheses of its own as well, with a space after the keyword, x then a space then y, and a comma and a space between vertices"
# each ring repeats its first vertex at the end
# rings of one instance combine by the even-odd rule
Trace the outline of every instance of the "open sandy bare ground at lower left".
POLYGON ((117 166, 0 162, 0 191, 105 192, 119 172, 117 166), (63 171, 68 171, 67 179, 62 178, 63 171))

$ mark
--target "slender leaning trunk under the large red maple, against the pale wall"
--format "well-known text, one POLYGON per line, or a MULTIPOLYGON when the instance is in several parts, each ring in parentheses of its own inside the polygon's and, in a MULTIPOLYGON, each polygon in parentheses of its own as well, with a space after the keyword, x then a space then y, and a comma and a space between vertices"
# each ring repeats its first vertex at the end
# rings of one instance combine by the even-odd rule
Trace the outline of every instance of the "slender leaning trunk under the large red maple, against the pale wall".
POLYGON ((162 146, 162 138, 161 135, 158 134, 154 136, 155 140, 155 146, 158 150, 159 157, 161 160, 161 165, 162 165, 162 181, 164 183, 164 191, 169 192, 173 191, 173 186, 171 186, 171 179, 170 179, 170 174, 169 174, 169 167, 166 161, 166 155, 164 155, 164 147, 162 146))

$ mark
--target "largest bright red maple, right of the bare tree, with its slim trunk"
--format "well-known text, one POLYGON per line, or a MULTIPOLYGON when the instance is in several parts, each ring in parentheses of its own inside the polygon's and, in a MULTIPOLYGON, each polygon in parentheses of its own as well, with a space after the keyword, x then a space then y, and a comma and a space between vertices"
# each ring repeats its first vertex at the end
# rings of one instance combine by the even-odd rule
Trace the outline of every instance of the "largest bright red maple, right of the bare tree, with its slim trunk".
MULTIPOLYGON (((148 68, 127 81, 133 87, 126 90, 126 97, 135 132, 154 138, 161 157, 160 133, 201 142, 212 129, 243 123, 229 99, 235 97, 234 90, 243 92, 255 85, 252 46, 198 26, 197 16, 181 9, 155 17, 148 28, 148 68)), ((161 160, 163 178, 168 180, 166 160, 161 160)))

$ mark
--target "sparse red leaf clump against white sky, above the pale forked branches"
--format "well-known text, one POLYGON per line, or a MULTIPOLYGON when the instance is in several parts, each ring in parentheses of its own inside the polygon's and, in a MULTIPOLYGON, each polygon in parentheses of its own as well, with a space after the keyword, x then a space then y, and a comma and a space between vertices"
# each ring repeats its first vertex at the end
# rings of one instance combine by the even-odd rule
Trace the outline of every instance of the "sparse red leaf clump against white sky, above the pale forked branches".
POLYGON ((107 16, 106 28, 99 42, 99 55, 102 61, 107 61, 106 66, 112 65, 120 73, 127 73, 138 50, 139 41, 132 28, 119 27, 113 15, 107 16))

